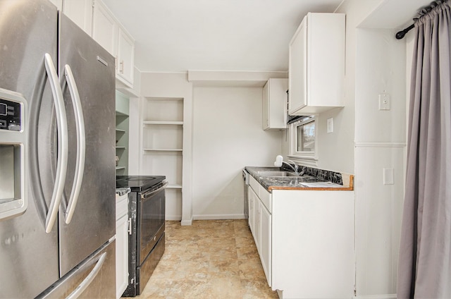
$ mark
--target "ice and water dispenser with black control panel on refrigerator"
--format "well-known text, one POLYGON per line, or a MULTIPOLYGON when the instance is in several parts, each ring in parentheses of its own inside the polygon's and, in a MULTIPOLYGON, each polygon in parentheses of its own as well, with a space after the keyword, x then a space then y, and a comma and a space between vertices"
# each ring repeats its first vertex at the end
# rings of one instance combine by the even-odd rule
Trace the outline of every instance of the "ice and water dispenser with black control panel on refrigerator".
POLYGON ((27 209, 27 102, 0 88, 0 219, 27 209))

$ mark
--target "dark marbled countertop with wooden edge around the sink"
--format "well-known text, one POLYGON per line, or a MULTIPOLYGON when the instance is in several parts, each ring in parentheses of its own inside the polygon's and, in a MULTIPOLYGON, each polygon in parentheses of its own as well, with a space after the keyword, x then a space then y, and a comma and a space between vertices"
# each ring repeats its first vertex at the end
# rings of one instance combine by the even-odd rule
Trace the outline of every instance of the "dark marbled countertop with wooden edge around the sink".
POLYGON ((349 181, 349 185, 340 185, 315 176, 259 176, 258 171, 286 171, 279 167, 246 166, 245 169, 269 192, 272 190, 354 190, 352 175, 345 180, 349 181))

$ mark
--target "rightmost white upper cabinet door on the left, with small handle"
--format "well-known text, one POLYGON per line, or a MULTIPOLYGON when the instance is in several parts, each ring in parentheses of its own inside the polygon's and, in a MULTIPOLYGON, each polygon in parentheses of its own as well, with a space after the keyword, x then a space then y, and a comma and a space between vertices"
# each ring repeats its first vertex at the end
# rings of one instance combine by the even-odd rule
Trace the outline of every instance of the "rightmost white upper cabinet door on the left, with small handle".
POLYGON ((135 42, 122 28, 118 35, 118 68, 117 78, 132 87, 133 67, 135 64, 135 42))

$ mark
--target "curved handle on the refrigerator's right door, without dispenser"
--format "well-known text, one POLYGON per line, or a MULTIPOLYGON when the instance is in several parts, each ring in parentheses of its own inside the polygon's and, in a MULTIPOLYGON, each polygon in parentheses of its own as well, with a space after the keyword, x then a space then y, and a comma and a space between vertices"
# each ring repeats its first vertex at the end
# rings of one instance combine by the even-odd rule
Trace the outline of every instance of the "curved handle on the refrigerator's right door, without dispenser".
POLYGON ((70 224, 75 207, 77 206, 78 196, 82 187, 83 173, 85 172, 86 135, 80 94, 78 93, 77 83, 75 83, 72 70, 68 64, 64 66, 64 75, 69 87, 70 97, 72 97, 75 125, 77 127, 77 163, 75 164, 75 176, 66 209, 66 224, 70 224))

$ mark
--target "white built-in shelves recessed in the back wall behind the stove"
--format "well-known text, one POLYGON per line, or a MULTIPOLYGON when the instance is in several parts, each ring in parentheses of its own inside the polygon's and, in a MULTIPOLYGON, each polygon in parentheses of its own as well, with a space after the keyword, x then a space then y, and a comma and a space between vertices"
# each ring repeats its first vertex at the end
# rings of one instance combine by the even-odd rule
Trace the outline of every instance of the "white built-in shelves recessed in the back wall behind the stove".
MULTIPOLYGON (((166 218, 182 214, 183 98, 146 97, 142 111, 142 175, 166 176, 166 218)), ((175 220, 175 219, 173 219, 175 220)))

